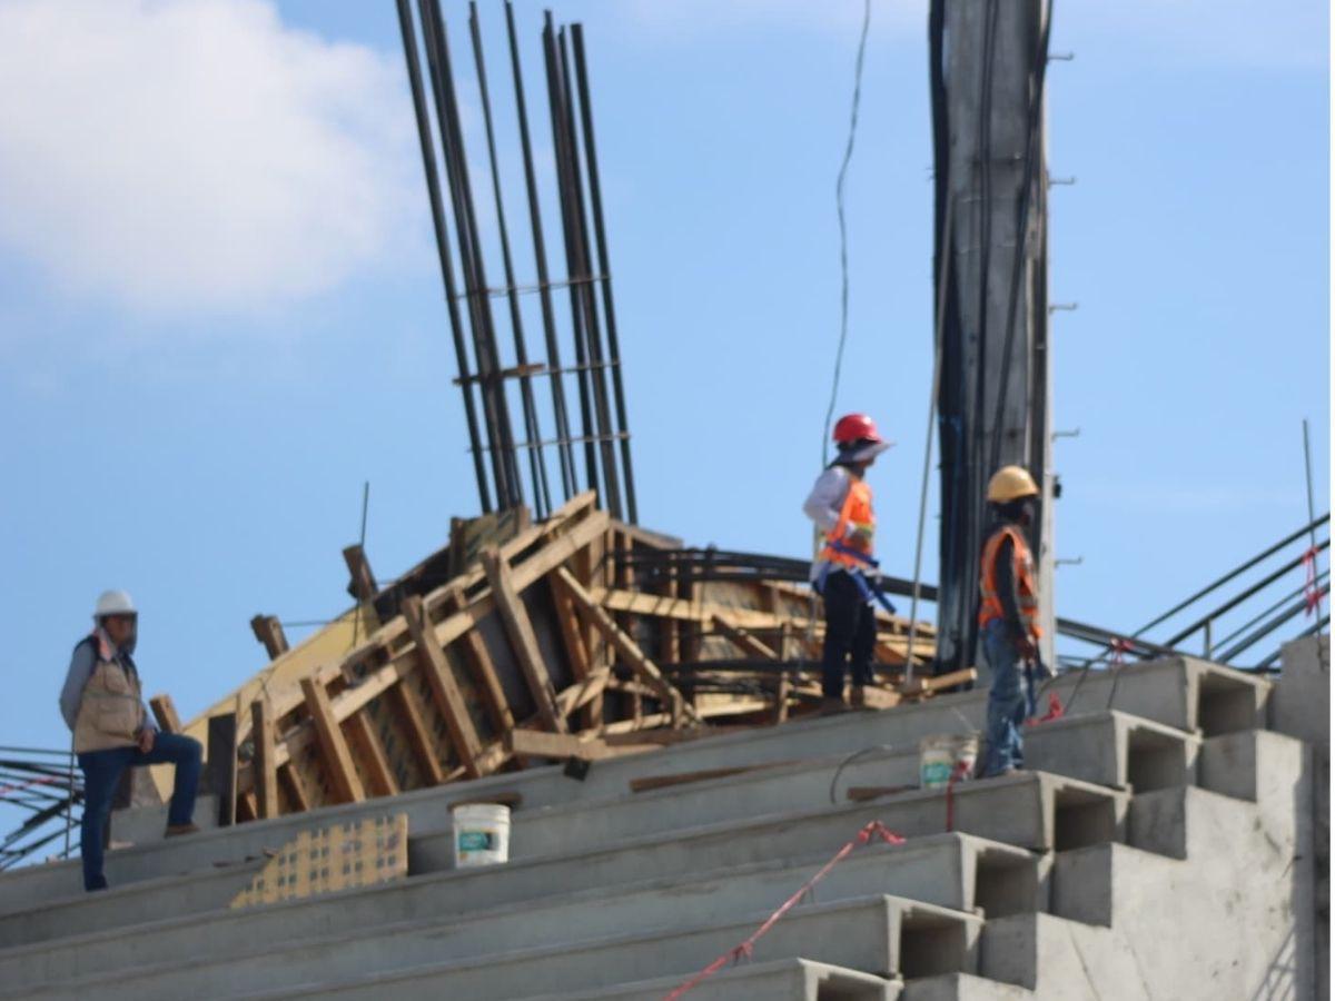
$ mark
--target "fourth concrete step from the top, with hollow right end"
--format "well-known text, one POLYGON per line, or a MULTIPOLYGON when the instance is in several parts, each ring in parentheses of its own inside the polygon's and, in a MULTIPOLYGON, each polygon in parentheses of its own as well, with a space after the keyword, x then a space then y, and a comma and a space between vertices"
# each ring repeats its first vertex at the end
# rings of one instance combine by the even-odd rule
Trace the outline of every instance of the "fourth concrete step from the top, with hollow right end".
MULTIPOLYGON (((324 942, 336 949, 342 937, 366 938, 391 926, 415 933, 439 924, 442 916, 451 921, 467 916, 470 933, 499 922, 509 930, 498 933, 494 941, 515 948, 546 941, 551 922, 558 928, 579 928, 586 933, 602 929, 611 934, 642 928, 646 921, 708 920, 728 908, 777 906, 830 854, 668 873, 606 889, 581 889, 577 878, 583 866, 569 860, 465 869, 246 912, 115 925, 93 934, 0 950, 0 984, 17 992, 123 970, 138 974, 162 964, 164 956, 199 957, 195 965, 202 969, 216 961, 236 962, 239 957, 263 953, 272 944, 307 948, 324 942), (525 889, 543 896, 518 897, 525 889), (517 926, 515 916, 526 914, 534 918, 517 926), (199 953, 200 942, 208 942, 207 956, 199 953)), ((830 870, 814 897, 828 902, 864 896, 874 886, 881 893, 952 910, 1001 916, 1045 908, 1047 873, 1045 856, 968 834, 936 834, 902 845, 858 848, 830 870)))

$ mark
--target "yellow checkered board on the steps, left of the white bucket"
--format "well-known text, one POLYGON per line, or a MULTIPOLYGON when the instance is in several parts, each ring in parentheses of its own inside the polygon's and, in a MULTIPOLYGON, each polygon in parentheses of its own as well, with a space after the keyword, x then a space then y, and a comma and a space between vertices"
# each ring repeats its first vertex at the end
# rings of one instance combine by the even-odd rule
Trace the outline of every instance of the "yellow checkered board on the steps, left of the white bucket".
POLYGON ((409 873, 409 817, 395 813, 303 830, 228 905, 254 908, 400 880, 409 873))

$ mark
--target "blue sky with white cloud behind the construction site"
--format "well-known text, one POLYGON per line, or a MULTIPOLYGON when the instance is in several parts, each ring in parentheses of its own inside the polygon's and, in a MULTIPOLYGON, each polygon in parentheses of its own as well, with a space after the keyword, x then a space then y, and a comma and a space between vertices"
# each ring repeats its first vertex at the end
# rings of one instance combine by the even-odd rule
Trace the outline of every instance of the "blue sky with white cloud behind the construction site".
MULTIPOLYGON (((475 511, 392 7, 0 0, 0 743, 64 742, 104 587, 140 602, 148 686, 188 717, 262 666, 251 615, 344 605, 364 479, 382 577, 475 511)), ((518 11, 531 71, 541 8, 518 11)), ((557 12, 591 55, 641 521, 800 555, 861 5, 557 12)), ((1081 430, 1056 446, 1059 555, 1083 558, 1063 614, 1133 627, 1302 523, 1303 416, 1328 505, 1327 35, 1294 0, 1056 5, 1076 59, 1048 75, 1049 164, 1079 179, 1051 198, 1052 299, 1080 303, 1053 319, 1056 424, 1081 430)), ((900 442, 873 472, 900 574, 930 160, 924 4, 876 0, 840 410, 900 442)))

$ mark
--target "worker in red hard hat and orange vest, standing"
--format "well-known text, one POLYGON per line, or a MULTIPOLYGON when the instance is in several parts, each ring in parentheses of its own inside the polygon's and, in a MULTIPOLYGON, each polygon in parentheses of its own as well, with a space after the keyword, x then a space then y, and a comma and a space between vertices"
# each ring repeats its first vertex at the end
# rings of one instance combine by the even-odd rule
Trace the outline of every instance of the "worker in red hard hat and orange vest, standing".
POLYGON ((825 599, 825 647, 821 657, 821 711, 846 709, 844 675, 852 667, 854 707, 865 705, 864 686, 872 683, 878 595, 872 557, 876 515, 866 470, 889 448, 866 414, 849 414, 834 424, 834 458, 802 505, 821 533, 821 549, 812 565, 812 583, 825 599))

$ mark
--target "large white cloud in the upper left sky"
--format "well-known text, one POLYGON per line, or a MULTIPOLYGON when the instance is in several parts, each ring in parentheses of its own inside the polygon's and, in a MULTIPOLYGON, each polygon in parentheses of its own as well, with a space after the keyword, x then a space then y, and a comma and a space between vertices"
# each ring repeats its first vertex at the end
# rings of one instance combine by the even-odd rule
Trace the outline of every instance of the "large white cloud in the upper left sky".
POLYGON ((266 0, 0 0, 0 243, 148 312, 328 290, 415 207, 400 76, 266 0))

